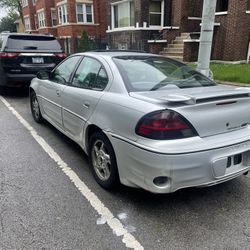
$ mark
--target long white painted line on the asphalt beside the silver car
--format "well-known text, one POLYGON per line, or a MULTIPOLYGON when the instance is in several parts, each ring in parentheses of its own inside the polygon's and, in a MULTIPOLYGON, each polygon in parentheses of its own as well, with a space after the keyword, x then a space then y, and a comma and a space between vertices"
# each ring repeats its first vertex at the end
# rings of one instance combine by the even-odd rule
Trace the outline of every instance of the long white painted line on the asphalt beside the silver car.
POLYGON ((112 212, 105 207, 101 200, 94 194, 87 185, 77 176, 77 174, 65 163, 62 158, 54 151, 50 145, 37 134, 36 130, 10 105, 10 103, 0 96, 0 100, 3 104, 16 116, 19 122, 30 132, 37 143, 43 148, 43 150, 53 159, 57 166, 64 172, 64 174, 71 180, 71 182, 77 187, 81 194, 89 201, 90 205, 96 210, 96 212, 106 219, 107 224, 112 229, 113 233, 117 236, 122 236, 122 242, 127 248, 135 250, 143 250, 143 246, 135 239, 135 237, 129 233, 129 231, 123 226, 123 224, 115 218, 112 212))

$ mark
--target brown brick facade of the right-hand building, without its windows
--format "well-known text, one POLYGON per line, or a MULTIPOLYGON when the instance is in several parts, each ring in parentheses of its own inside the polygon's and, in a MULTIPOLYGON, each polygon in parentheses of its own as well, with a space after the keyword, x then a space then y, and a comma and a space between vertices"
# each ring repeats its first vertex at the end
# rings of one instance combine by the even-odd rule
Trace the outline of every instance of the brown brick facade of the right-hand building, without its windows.
MULTIPOLYGON (((112 28, 112 18, 114 18, 111 11, 112 5, 119 2, 120 0, 107 0, 107 23, 111 27, 108 30, 108 37, 111 48, 155 51, 159 46, 150 45, 148 40, 157 39, 159 36, 159 39, 166 39, 171 43, 180 33, 200 32, 199 18, 202 16, 203 0, 163 0, 164 23, 159 29, 151 28, 149 25, 150 0, 133 0, 135 20, 132 26, 134 28, 128 27, 127 30, 112 28), (146 27, 143 23, 147 23, 146 27), (154 48, 150 49, 150 46, 154 48)), ((218 25, 215 26, 214 31, 212 59, 246 60, 250 42, 250 0, 218 0, 217 3, 216 23, 218 25)), ((193 60, 194 55, 198 55, 198 47, 192 44, 184 51, 187 54, 190 53, 193 60)), ((184 58, 188 56, 184 55, 184 58)))

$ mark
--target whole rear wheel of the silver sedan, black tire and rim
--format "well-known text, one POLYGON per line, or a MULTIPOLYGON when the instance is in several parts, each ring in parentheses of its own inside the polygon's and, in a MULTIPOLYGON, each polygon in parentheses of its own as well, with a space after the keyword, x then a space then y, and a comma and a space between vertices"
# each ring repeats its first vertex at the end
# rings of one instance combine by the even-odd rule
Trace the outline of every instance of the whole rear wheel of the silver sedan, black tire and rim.
POLYGON ((89 164, 97 183, 105 189, 119 185, 114 149, 108 138, 95 132, 89 141, 89 164))

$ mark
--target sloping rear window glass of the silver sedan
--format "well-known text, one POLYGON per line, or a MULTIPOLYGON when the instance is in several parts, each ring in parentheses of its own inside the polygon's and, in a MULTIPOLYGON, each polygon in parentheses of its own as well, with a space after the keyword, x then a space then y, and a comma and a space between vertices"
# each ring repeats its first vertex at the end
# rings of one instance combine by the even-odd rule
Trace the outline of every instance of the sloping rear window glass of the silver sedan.
POLYGON ((164 57, 120 56, 113 60, 129 92, 215 85, 193 68, 164 57))

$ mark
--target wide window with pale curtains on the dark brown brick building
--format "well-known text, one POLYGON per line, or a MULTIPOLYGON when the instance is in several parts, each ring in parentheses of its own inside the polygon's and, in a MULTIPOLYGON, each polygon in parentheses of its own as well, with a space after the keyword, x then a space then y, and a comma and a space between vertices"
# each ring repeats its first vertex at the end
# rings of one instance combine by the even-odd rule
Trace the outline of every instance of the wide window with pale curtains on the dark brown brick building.
POLYGON ((134 2, 127 1, 111 6, 112 10, 112 28, 122 28, 134 26, 134 2))

